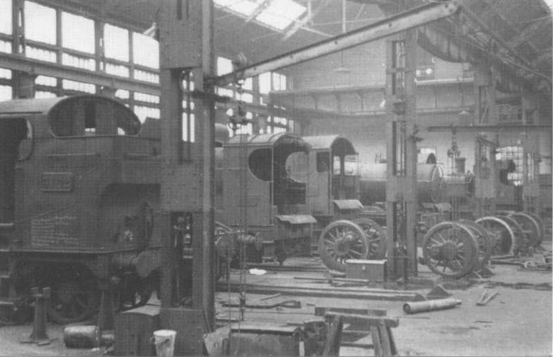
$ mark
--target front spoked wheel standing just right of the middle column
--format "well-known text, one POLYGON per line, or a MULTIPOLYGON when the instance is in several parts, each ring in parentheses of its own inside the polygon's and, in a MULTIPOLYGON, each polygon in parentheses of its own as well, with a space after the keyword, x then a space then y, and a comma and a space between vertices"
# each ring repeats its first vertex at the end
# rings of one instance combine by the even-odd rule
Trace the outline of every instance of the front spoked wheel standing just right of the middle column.
POLYGON ((442 222, 424 235, 422 251, 428 268, 444 277, 462 277, 478 264, 478 242, 469 228, 442 222))

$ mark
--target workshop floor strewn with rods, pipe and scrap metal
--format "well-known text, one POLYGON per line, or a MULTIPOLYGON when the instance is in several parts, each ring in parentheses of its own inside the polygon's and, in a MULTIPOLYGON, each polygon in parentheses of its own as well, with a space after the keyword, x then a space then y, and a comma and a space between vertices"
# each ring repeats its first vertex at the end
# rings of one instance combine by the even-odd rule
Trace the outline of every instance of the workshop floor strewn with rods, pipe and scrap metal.
MULTIPOLYGON (((551 251, 551 241, 545 241, 543 248, 551 251)), ((543 262, 543 254, 536 253, 534 257, 523 260, 543 262)), ((551 271, 495 264, 491 267, 494 274, 492 277, 442 282, 442 286, 446 287, 453 298, 461 300, 462 304, 453 309, 407 315, 402 310, 405 294, 426 295, 430 286, 411 286, 413 289, 397 291, 397 295, 389 290, 380 294, 382 289, 378 286, 370 289, 356 284, 331 286, 325 281, 327 272, 314 259, 289 259, 285 262, 286 265, 304 266, 305 269, 266 269, 263 275, 252 275, 246 271, 243 275, 246 280, 246 301, 270 304, 295 300, 300 302, 301 307, 246 307, 244 318, 247 322, 300 325, 305 320, 314 318, 316 306, 386 310, 388 317, 399 318, 399 326, 392 329, 392 333, 400 356, 552 356, 551 271), (309 267, 315 269, 309 271, 309 267), (256 286, 263 286, 264 291, 256 286), (280 289, 282 294, 275 296, 277 293, 271 291, 271 286, 277 293, 280 289), (498 295, 486 305, 477 306, 475 303, 486 290, 496 291, 498 295), (355 298, 347 297, 348 294, 355 298), (374 300, 387 294, 392 296, 389 300, 374 300), (269 298, 261 300, 265 297, 269 298)), ((419 277, 421 281, 435 280, 435 275, 425 266, 419 266, 419 277)), ((239 284, 239 271, 233 272, 230 281, 239 284)), ((219 326, 233 321, 236 323, 239 310, 223 304, 229 300, 235 302, 238 294, 229 293, 226 282, 219 282, 218 288, 216 305, 219 326)), ((32 324, 0 327, 0 356, 102 356, 105 353, 104 347, 66 349, 62 341, 62 330, 62 326, 48 324, 48 335, 57 340, 51 345, 37 346, 19 343, 30 334, 32 324)), ((372 344, 370 335, 361 336, 355 342, 372 344)), ((340 354, 373 356, 374 351, 361 347, 341 347, 340 354)))

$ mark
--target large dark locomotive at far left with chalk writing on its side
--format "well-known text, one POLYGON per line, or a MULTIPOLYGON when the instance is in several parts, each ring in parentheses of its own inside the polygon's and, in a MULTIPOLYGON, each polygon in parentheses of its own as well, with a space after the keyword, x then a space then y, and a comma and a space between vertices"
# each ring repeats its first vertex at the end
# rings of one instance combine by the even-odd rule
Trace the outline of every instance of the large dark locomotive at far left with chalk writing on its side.
POLYGON ((52 291, 48 315, 89 317, 100 287, 143 304, 160 246, 156 133, 96 95, 0 102, 0 291, 52 291))

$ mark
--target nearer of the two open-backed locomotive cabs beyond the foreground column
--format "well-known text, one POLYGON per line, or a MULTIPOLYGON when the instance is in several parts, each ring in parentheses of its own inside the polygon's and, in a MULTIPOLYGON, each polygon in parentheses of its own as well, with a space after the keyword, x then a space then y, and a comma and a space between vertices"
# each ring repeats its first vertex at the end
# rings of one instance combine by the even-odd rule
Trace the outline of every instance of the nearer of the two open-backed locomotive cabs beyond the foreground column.
POLYGON ((283 262, 287 255, 309 252, 316 220, 307 210, 307 183, 287 166, 291 154, 308 151, 290 133, 237 135, 224 144, 224 222, 239 229, 247 225, 263 241, 262 252, 249 260, 283 262))

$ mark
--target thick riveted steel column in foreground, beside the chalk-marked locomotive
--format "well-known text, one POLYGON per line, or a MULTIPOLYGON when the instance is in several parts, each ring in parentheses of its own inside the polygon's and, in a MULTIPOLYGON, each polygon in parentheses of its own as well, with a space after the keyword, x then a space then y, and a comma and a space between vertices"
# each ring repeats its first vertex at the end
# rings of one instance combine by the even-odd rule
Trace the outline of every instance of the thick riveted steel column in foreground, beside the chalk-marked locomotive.
POLYGON ((161 324, 177 330, 176 355, 199 355, 202 333, 215 327, 215 102, 203 81, 215 73, 212 1, 163 1, 160 17, 161 324), (183 80, 190 75, 207 95, 195 101, 194 143, 183 145, 183 80))

